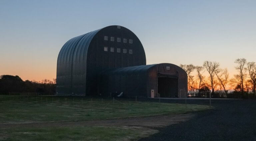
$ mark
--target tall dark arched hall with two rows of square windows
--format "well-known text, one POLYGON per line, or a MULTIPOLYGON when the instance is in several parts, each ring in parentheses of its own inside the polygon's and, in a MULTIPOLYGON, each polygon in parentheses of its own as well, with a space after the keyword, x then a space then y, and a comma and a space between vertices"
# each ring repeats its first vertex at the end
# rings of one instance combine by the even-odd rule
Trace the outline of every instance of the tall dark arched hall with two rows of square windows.
POLYGON ((138 37, 122 26, 108 26, 70 39, 57 61, 58 94, 97 94, 102 70, 146 65, 138 37))

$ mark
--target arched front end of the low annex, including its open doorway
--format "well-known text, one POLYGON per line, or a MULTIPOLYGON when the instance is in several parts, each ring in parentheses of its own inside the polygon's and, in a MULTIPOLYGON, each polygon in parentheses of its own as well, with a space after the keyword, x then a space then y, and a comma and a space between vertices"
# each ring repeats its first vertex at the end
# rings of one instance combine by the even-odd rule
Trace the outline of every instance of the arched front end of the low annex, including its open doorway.
POLYGON ((148 78, 148 97, 181 98, 186 95, 187 73, 179 66, 157 64, 148 71, 148 78))

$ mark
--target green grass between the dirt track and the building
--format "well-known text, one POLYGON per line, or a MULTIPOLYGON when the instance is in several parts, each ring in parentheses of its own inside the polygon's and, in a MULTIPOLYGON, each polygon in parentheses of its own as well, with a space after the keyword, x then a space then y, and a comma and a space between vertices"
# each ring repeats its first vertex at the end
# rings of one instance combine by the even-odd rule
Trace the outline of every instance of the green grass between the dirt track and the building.
POLYGON ((110 103, 112 99, 92 99, 76 97, 1 96, 0 123, 3 122, 45 122, 77 121, 118 118, 127 116, 147 116, 162 114, 183 114, 209 109, 205 105, 186 105, 159 102, 135 102, 121 100, 110 103), (42 97, 42 101, 41 101, 42 97), (9 98, 9 99, 8 99, 9 98), (60 99, 59 99, 60 98, 60 99), (4 100, 3 100, 4 99, 4 100), (109 105, 108 105, 109 104, 109 105))

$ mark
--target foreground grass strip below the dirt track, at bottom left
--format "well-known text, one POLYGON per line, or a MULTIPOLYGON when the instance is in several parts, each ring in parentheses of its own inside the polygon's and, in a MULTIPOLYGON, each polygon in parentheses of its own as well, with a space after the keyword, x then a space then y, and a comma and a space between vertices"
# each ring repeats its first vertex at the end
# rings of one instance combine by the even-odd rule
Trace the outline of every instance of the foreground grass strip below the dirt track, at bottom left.
POLYGON ((0 130, 3 141, 64 141, 64 140, 137 140, 156 130, 143 131, 128 127, 57 127, 57 128, 7 128, 0 130))

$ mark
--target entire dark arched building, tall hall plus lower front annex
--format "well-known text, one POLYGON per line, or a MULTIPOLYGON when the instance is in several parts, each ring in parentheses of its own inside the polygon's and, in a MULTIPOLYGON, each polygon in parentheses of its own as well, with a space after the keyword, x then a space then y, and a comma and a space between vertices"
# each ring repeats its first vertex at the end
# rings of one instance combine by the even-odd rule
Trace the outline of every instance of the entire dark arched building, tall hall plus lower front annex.
POLYGON ((74 37, 58 55, 57 94, 181 97, 180 91, 187 94, 187 73, 168 63, 146 65, 139 38, 122 26, 74 37))

